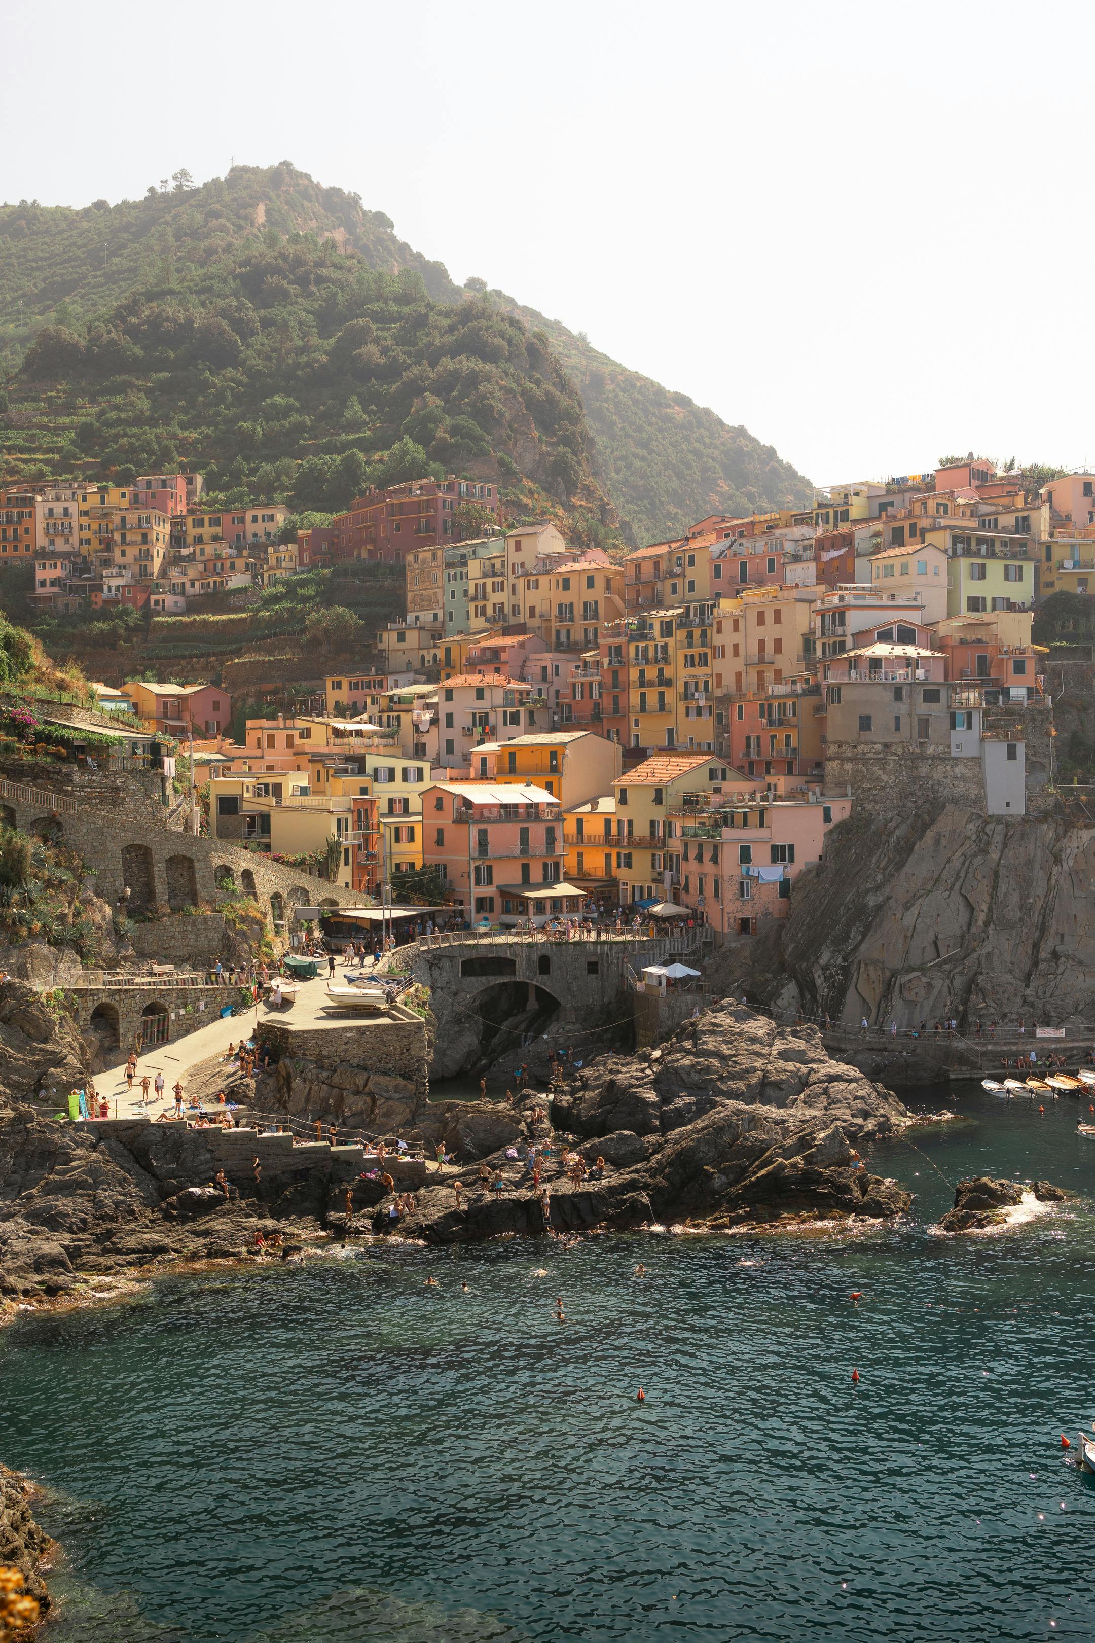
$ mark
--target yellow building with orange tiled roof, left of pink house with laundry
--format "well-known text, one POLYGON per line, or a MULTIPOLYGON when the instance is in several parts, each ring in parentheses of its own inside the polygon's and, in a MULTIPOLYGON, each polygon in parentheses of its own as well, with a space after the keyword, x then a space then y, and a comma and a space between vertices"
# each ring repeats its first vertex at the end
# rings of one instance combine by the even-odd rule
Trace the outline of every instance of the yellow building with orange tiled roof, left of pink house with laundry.
MULTIPOLYGON (((686 794, 721 797, 744 782, 747 777, 717 757, 696 752, 658 752, 617 775, 612 784, 612 872, 619 879, 621 905, 668 897, 673 882, 670 810, 680 808, 686 794)), ((604 856, 604 843, 599 849, 604 856)))

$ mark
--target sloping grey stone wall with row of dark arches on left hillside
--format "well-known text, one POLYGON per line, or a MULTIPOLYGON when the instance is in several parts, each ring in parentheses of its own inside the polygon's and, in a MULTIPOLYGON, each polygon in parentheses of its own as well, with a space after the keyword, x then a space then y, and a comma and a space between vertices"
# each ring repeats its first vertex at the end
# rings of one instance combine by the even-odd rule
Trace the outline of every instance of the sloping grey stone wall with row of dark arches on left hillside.
POLYGON ((121 802, 117 810, 100 810, 67 794, 0 779, 0 822, 64 840, 95 868, 99 895, 126 915, 215 907, 241 892, 258 902, 274 935, 282 935, 294 907, 361 900, 338 884, 235 845, 156 826, 144 805, 121 802))

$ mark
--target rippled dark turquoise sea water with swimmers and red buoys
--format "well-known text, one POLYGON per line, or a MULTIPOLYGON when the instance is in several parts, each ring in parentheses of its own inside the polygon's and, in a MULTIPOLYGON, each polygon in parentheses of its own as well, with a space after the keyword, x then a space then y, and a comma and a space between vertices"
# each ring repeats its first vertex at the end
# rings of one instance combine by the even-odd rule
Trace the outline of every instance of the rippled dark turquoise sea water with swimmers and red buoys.
POLYGON ((952 1104, 875 1148, 898 1229, 371 1247, 0 1332, 0 1454, 64 1492, 53 1636, 1093 1638, 1095 1142, 952 1104), (1084 1196, 939 1239, 929 1158, 1084 1196))

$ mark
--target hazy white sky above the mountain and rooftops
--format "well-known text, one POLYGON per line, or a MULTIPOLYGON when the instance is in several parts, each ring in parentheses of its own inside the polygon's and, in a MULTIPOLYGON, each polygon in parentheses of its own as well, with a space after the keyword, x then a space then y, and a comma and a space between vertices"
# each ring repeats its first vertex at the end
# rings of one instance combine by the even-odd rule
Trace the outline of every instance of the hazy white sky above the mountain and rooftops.
POLYGON ((291 159, 816 483, 1095 462, 1090 3, 0 0, 0 197, 291 159))

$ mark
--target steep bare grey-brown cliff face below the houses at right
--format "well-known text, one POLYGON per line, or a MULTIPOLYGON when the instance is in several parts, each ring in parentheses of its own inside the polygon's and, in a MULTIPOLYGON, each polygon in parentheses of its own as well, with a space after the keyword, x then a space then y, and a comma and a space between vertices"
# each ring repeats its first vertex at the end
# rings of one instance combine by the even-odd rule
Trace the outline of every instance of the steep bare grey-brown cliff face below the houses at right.
POLYGON ((836 828, 791 915, 729 960, 750 997, 859 1024, 951 1015, 1090 1024, 1095 818, 864 810, 836 828))

